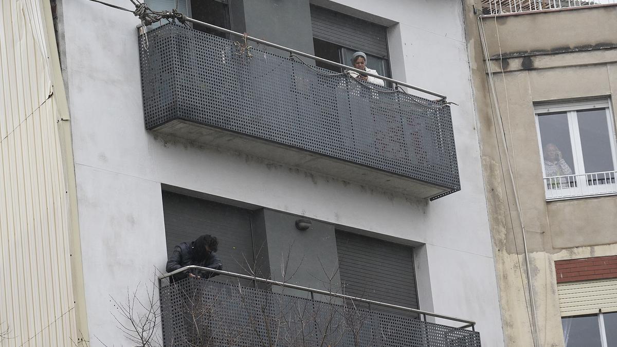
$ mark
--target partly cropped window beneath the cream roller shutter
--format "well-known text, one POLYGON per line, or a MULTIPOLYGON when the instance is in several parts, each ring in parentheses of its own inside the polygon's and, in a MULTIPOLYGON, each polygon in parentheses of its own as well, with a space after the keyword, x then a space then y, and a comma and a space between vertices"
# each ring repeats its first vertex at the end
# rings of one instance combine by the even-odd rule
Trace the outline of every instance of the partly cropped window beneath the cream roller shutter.
POLYGON ((617 346, 617 312, 561 318, 566 347, 617 346))

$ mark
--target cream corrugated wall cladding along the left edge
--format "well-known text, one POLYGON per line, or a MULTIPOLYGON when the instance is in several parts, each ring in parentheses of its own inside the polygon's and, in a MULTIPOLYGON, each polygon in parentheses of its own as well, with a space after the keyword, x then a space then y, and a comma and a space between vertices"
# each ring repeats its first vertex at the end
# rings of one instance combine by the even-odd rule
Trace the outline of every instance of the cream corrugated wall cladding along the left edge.
POLYGON ((0 346, 78 341, 59 111, 39 0, 1 1, 0 346))

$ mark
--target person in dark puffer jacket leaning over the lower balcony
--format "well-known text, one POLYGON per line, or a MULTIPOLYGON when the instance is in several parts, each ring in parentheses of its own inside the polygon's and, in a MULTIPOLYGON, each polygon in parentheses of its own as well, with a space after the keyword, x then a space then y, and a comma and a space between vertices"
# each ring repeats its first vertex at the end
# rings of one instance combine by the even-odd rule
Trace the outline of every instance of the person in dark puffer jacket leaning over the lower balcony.
MULTIPOLYGON (((173 249, 172 255, 167 261, 165 270, 172 272, 188 265, 209 267, 210 269, 222 270, 223 263, 218 259, 218 240, 215 236, 201 235, 192 242, 183 242, 173 249)), ((173 275, 173 280, 182 278, 210 278, 218 274, 207 270, 190 269, 180 274, 173 275)))

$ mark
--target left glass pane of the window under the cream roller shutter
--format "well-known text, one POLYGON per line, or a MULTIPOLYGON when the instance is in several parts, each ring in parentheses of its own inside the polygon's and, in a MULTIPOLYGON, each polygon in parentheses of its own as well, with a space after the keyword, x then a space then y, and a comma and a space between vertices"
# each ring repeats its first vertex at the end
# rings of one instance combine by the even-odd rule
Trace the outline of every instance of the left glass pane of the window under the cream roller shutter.
POLYGON ((598 316, 576 316, 561 318, 563 341, 566 347, 602 347, 598 316))

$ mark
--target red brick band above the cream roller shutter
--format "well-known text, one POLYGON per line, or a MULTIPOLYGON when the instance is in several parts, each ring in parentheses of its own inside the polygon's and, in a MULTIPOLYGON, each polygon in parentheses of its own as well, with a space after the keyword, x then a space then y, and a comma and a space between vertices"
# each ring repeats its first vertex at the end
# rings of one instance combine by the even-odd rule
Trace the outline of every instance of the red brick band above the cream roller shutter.
POLYGON ((617 256, 555 261, 557 283, 617 278, 617 256))

